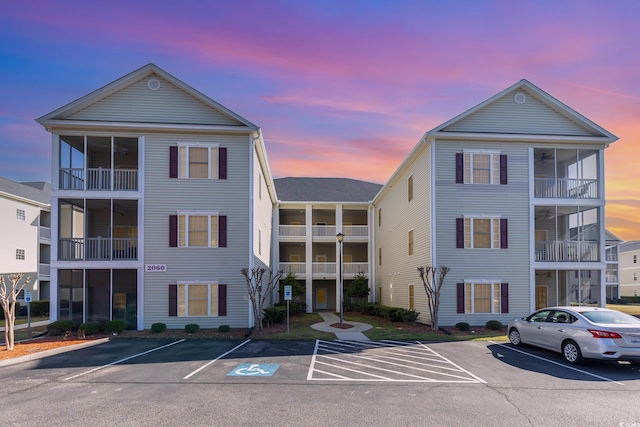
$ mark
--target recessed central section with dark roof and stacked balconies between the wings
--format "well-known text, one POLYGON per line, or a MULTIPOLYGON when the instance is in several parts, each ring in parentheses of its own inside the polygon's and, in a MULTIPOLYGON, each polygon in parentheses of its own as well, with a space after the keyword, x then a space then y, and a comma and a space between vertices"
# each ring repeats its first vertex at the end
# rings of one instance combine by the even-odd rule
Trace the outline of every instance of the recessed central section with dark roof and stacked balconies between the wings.
MULTIPOLYGON (((346 178, 275 179, 278 195, 274 260, 306 287, 307 312, 339 310, 340 251, 344 288, 374 276, 371 201, 382 185, 346 178), (342 248, 336 236, 342 233, 342 248)), ((343 295, 344 298, 344 295, 343 295)))

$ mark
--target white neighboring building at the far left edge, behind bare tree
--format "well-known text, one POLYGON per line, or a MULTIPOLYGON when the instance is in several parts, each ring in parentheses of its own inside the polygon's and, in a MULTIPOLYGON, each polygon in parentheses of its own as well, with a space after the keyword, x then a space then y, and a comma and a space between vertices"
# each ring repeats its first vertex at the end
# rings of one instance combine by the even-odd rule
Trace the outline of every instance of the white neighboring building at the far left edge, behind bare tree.
MULTIPOLYGON (((0 177, 0 274, 25 273, 32 299, 49 299, 51 253, 51 186, 46 182, 15 182, 0 177)), ((25 277, 26 278, 26 277, 25 277)))

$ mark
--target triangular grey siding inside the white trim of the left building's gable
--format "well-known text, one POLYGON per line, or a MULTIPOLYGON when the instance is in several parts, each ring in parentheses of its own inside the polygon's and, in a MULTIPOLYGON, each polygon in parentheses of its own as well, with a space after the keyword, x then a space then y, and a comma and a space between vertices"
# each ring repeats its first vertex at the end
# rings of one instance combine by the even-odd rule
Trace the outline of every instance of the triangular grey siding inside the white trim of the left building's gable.
POLYGON ((140 123, 242 125, 157 74, 144 77, 112 95, 62 118, 140 123), (160 89, 153 91, 147 87, 147 82, 152 78, 160 81, 160 89))

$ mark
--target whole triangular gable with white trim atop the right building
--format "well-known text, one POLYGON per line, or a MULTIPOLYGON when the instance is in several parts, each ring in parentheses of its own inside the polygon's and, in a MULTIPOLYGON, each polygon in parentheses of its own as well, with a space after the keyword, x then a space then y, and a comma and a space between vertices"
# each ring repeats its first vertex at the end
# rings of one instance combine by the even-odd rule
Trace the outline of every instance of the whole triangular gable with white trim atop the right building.
POLYGON ((502 135, 599 143, 618 139, 525 79, 430 130, 427 135, 437 138, 502 135))

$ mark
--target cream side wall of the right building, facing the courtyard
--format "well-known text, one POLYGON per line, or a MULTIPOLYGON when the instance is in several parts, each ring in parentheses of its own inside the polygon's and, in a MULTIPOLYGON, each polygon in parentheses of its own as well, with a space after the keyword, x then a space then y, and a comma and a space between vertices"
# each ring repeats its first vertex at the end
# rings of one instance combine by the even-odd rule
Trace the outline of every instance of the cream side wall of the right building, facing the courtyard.
POLYGON ((431 175, 429 146, 415 156, 413 162, 376 201, 374 209, 382 209, 382 226, 376 220, 376 282, 382 288, 381 304, 409 308, 409 285, 415 285, 415 308, 420 320, 429 319, 429 309, 417 268, 431 263, 431 175), (413 176, 413 199, 407 200, 407 179, 413 176), (413 230, 413 255, 407 255, 409 230, 413 230), (382 247, 382 265, 378 265, 382 247))

